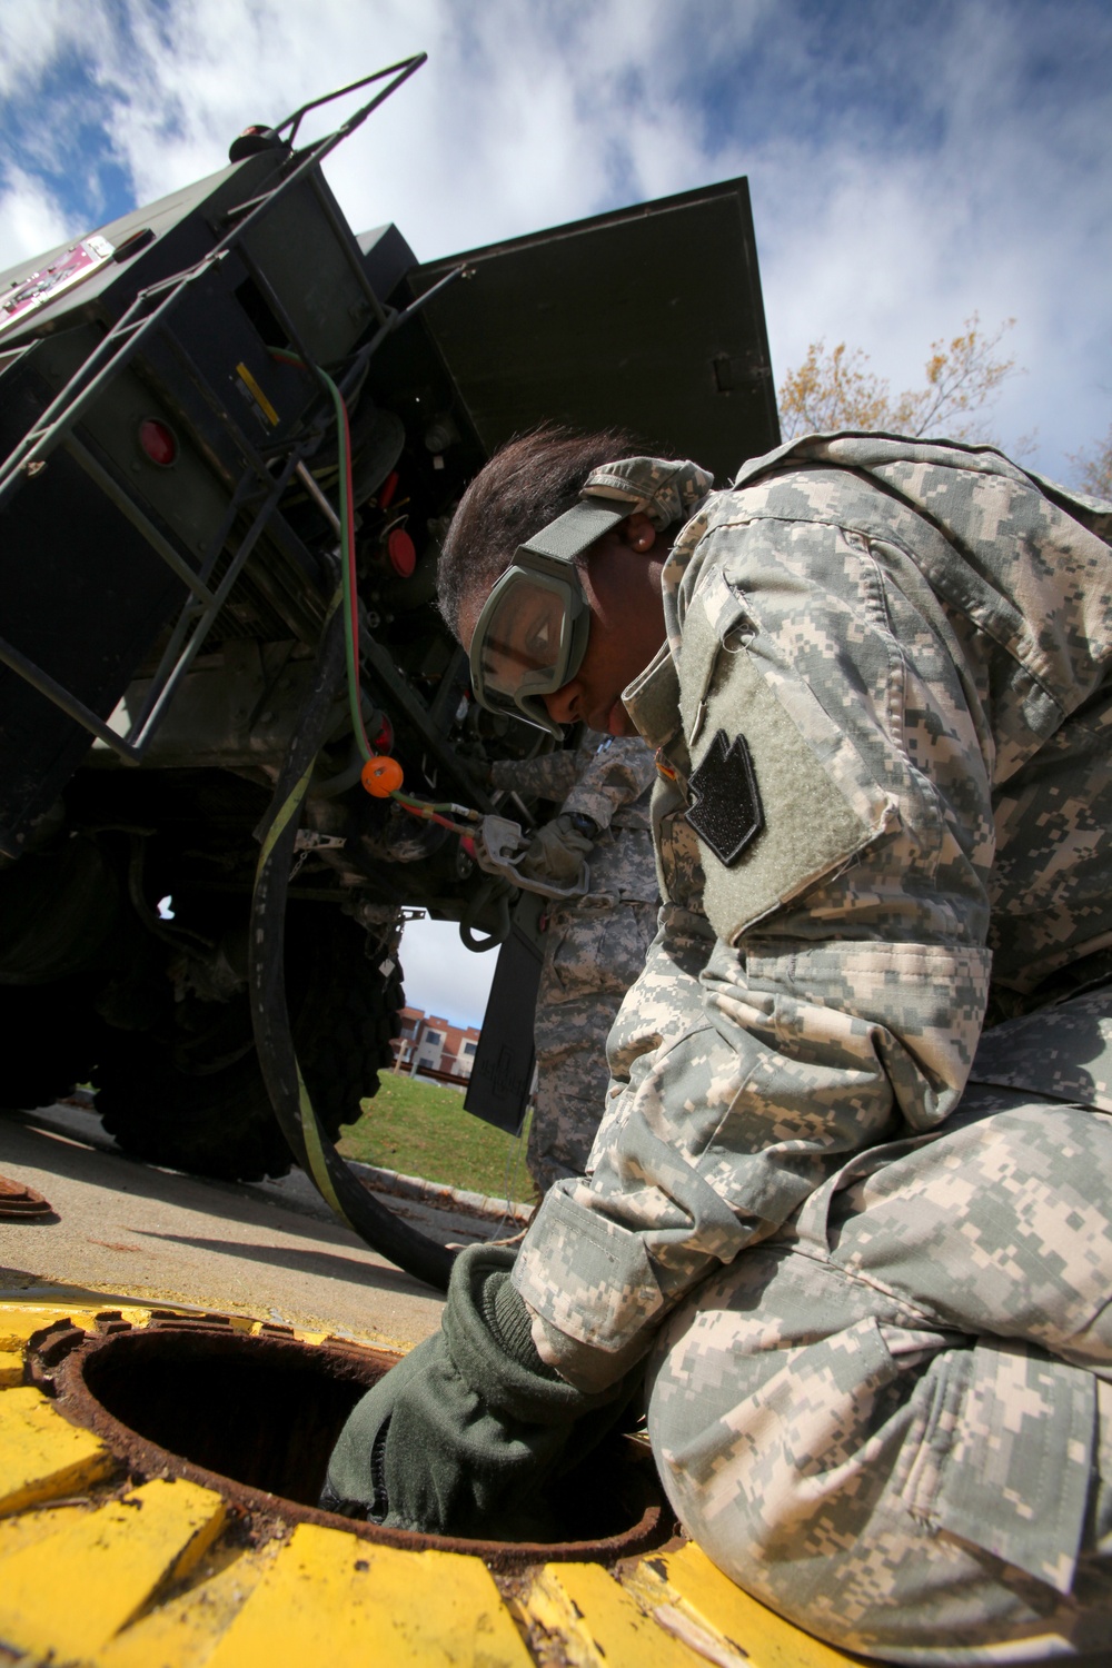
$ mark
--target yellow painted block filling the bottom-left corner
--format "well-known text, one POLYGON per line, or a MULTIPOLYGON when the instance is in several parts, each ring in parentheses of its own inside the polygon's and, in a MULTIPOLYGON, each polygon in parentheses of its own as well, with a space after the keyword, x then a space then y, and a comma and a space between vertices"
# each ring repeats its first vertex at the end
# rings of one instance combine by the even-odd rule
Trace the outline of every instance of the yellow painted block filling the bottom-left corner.
POLYGON ((0 1638, 35 1656, 90 1656, 212 1545, 223 1501, 195 1483, 145 1483, 0 1563, 0 1638))

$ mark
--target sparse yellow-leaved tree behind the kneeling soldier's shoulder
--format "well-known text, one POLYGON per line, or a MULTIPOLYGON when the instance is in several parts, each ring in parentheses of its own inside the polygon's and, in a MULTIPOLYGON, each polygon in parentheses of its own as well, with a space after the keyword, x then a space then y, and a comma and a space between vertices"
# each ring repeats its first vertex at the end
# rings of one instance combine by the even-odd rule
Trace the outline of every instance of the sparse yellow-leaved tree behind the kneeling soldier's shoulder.
POLYGON ((865 429, 984 440, 980 414, 992 405, 1005 377, 1015 372, 1015 360, 999 354, 1014 324, 1014 319, 1005 319, 989 334, 980 327, 980 315, 974 314, 950 342, 939 337, 930 344, 925 387, 907 389, 895 397, 887 377, 870 369, 869 354, 860 347, 847 349, 845 342, 839 342, 827 350, 825 339, 812 342, 802 365, 789 370, 780 384, 784 439, 865 429))

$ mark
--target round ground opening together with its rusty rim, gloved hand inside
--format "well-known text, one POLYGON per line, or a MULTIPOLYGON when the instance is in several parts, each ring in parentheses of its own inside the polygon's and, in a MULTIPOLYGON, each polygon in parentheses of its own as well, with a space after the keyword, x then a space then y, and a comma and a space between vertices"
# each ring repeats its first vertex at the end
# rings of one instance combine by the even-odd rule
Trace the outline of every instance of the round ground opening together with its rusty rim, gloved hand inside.
POLYGON ((412 1551, 440 1550, 513 1571, 538 1561, 615 1563, 675 1535, 645 1443, 615 1436, 560 1485, 560 1540, 412 1535, 317 1508, 348 1413, 402 1358, 292 1329, 245 1331, 228 1316, 113 1314, 87 1333, 62 1321, 32 1338, 28 1376, 93 1431, 133 1476, 180 1476, 220 1493, 252 1538, 318 1523, 412 1551))

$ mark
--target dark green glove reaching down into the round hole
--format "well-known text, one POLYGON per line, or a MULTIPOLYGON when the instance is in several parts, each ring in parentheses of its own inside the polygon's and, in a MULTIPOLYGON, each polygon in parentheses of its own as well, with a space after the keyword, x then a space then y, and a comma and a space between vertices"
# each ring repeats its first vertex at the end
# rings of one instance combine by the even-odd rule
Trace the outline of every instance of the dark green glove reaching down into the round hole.
POLYGON ((368 1389, 340 1431, 325 1511, 423 1535, 550 1538, 545 1485, 617 1423, 642 1369, 594 1396, 565 1384, 530 1338, 515 1256, 480 1244, 457 1258, 442 1331, 368 1389))

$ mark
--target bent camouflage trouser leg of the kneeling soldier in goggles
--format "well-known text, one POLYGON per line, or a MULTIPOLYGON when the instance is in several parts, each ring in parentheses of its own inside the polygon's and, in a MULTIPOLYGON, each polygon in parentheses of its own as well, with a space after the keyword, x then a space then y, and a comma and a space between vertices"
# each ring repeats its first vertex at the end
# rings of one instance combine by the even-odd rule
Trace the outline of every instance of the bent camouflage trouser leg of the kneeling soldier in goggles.
POLYGON ((974 1088, 699 1288, 649 1426, 710 1558, 887 1661, 1112 1661, 1109 1201, 1109 1114, 974 1088))

